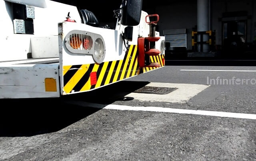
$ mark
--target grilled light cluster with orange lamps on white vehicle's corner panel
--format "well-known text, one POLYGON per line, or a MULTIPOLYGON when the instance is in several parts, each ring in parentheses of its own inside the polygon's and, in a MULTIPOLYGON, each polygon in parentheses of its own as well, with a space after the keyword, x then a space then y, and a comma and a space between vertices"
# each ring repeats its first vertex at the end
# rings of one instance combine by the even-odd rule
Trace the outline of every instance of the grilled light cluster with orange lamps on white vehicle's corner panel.
POLYGON ((106 55, 106 46, 101 35, 73 30, 65 38, 68 51, 76 54, 89 54, 96 63, 102 63, 106 55))

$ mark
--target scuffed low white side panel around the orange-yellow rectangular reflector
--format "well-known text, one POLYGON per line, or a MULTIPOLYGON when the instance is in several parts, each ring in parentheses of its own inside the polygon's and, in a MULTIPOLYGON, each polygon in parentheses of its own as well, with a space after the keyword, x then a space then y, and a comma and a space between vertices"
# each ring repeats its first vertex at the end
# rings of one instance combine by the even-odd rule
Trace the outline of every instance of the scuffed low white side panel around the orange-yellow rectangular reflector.
POLYGON ((0 98, 60 97, 58 64, 1 65, 0 98), (46 92, 44 80, 56 79, 57 92, 46 92))

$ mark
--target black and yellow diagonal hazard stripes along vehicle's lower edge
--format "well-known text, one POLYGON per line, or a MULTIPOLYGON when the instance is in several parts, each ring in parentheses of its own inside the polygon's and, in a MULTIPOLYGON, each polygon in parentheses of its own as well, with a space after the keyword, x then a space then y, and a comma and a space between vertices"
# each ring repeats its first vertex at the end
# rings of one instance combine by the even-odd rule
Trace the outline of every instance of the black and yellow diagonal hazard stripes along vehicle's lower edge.
MULTIPOLYGON (((150 56, 151 62, 158 62, 162 67, 164 55, 150 56)), ((63 67, 64 92, 82 92, 99 88, 113 82, 117 82, 141 73, 145 73, 158 67, 143 67, 138 64, 137 45, 130 45, 123 60, 109 61, 101 64, 69 65, 63 67), (91 85, 90 73, 96 72, 97 83, 91 85)))

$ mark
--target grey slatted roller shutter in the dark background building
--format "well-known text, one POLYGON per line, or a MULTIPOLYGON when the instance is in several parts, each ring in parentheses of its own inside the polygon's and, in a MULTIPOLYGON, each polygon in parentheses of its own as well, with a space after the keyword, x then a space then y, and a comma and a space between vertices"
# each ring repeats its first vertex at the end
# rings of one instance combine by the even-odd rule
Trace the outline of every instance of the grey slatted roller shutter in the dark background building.
POLYGON ((170 47, 187 47, 186 34, 165 35, 165 41, 170 43, 170 47))

